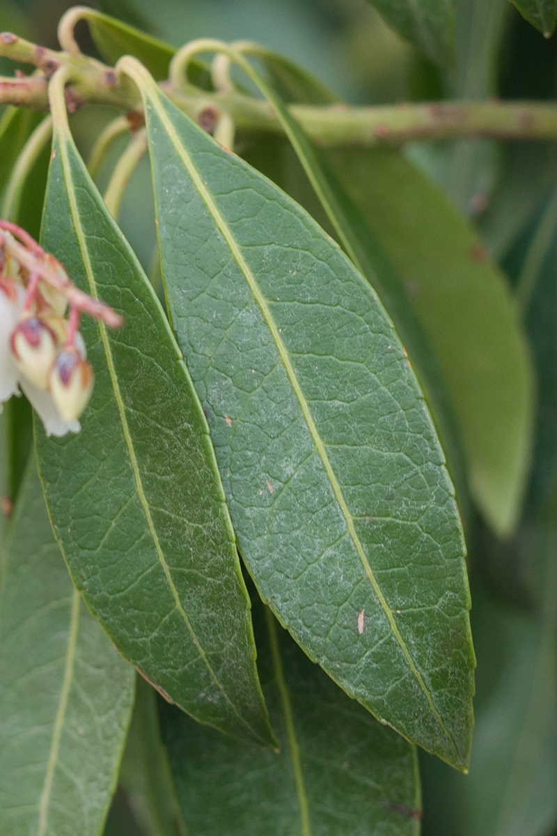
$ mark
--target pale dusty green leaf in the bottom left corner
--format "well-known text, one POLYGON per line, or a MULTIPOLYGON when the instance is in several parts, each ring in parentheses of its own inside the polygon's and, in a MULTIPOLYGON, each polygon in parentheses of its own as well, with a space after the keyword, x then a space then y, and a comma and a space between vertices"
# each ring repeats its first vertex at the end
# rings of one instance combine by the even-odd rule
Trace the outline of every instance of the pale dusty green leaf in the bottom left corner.
POLYGON ((32 461, 0 609, 1 833, 97 836, 133 698, 133 668, 73 588, 32 461))

